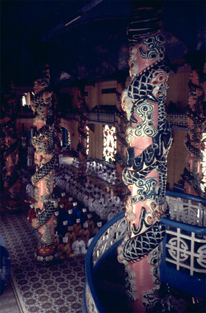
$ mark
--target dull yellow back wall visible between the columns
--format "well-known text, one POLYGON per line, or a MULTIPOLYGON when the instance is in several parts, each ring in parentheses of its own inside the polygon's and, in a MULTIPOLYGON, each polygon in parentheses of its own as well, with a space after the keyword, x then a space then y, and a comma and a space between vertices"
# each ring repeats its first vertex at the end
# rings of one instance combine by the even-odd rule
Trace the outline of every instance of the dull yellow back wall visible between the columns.
MULTIPOLYGON (((178 67, 177 72, 170 72, 169 88, 166 96, 166 111, 168 111, 169 103, 172 101, 176 104, 178 113, 184 113, 187 107, 189 95, 189 75, 191 68, 188 65, 178 67)), ((126 87, 130 82, 130 77, 126 79, 126 87)), ((99 81, 85 86, 85 101, 88 111, 92 111, 98 106, 114 106, 117 105, 117 95, 115 89, 117 87, 116 80, 99 81), (103 90, 108 90, 104 93, 103 90)), ((206 87, 206 82, 203 88, 206 87)), ((205 88, 206 89, 206 88, 205 88)), ((69 111, 78 110, 78 88, 69 87, 63 88, 62 93, 69 93, 70 103, 68 104, 69 111)), ((22 123, 24 123, 25 131, 33 127, 33 118, 18 118, 17 133, 22 134, 22 123)), ((76 150, 78 145, 78 121, 68 120, 65 117, 61 119, 61 127, 66 127, 71 133, 71 150, 76 150)), ((184 146, 186 129, 173 129, 173 143, 168 155, 168 174, 167 182, 169 188, 173 189, 173 184, 177 184, 181 179, 181 174, 186 166, 187 149, 184 146)), ((103 159, 103 125, 94 124, 89 129, 89 157, 103 159)))

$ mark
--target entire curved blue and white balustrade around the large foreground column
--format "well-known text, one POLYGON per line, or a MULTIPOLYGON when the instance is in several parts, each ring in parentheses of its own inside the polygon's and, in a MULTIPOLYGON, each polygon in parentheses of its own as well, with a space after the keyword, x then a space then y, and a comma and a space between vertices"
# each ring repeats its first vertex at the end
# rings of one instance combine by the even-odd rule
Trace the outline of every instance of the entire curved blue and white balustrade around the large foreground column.
MULTIPOLYGON (((192 296, 205 297, 206 199, 171 191, 166 191, 166 199, 170 210, 175 209, 173 216, 176 220, 162 218, 162 223, 166 225, 166 236, 162 243, 160 279, 192 296), (175 208, 175 202, 178 210, 175 208), (185 218, 185 214, 189 214, 190 211, 194 212, 190 216, 194 225, 187 223, 189 219, 185 218)), ((104 312, 94 288, 94 273, 98 264, 117 249, 126 228, 126 218, 122 212, 103 225, 87 250, 84 313, 104 312)))

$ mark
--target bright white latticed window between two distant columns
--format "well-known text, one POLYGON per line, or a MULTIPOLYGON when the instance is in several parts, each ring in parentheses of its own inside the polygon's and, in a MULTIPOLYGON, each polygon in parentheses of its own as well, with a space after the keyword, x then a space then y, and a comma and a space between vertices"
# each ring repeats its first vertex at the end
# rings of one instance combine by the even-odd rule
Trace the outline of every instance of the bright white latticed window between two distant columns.
POLYGON ((105 125, 103 127, 103 160, 109 163, 115 162, 117 153, 117 137, 114 126, 105 125))

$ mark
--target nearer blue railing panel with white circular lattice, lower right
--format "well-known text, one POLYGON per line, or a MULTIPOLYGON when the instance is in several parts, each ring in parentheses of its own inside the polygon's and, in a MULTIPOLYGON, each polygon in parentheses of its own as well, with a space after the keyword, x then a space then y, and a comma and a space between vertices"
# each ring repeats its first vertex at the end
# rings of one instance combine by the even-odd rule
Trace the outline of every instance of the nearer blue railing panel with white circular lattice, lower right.
POLYGON ((206 227, 161 219, 166 225, 160 280, 192 296, 205 297, 206 227))

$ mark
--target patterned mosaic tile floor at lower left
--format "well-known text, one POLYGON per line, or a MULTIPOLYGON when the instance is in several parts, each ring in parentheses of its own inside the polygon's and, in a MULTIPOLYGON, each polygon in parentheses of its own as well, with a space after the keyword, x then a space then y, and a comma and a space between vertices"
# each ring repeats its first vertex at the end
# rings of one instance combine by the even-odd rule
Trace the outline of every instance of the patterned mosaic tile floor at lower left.
POLYGON ((24 212, 3 214, 0 229, 15 278, 28 312, 80 313, 85 284, 85 257, 53 264, 35 259, 35 234, 24 212))

